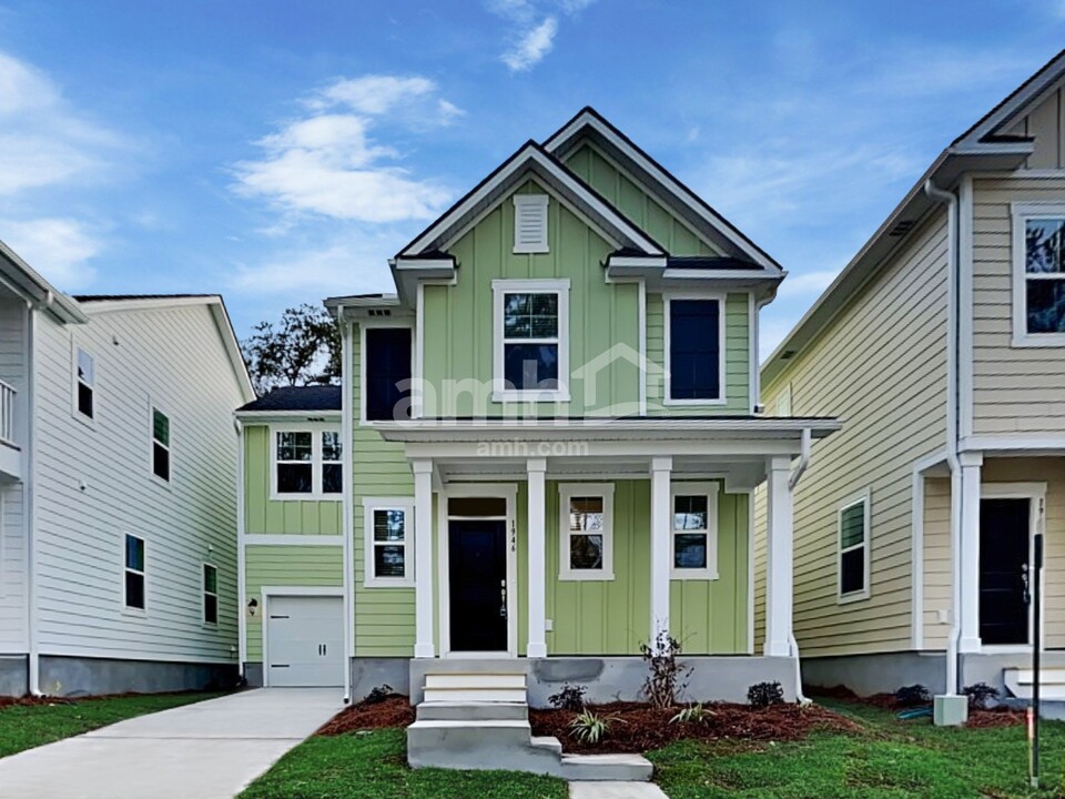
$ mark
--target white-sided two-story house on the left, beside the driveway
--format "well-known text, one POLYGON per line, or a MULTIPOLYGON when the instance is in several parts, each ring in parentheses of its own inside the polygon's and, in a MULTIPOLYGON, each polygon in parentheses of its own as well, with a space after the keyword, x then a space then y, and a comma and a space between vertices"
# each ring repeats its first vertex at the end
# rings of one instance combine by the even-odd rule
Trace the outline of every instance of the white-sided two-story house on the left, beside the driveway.
POLYGON ((219 296, 68 296, 0 244, 0 695, 236 678, 219 296))

